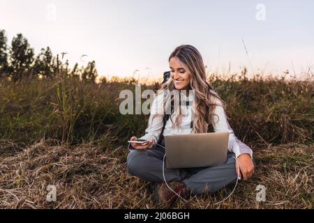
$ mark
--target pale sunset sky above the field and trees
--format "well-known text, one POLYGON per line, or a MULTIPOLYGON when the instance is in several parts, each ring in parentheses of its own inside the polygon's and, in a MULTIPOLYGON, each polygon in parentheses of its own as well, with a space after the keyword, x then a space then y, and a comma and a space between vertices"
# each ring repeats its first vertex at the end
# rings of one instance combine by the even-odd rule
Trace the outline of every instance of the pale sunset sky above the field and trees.
POLYGON ((95 60, 106 76, 162 77, 182 44, 197 47, 209 71, 251 71, 250 60, 254 72, 299 73, 314 65, 313 10, 312 0, 0 0, 0 29, 9 42, 22 33, 36 53, 68 52, 72 66, 87 54, 80 63, 95 60))

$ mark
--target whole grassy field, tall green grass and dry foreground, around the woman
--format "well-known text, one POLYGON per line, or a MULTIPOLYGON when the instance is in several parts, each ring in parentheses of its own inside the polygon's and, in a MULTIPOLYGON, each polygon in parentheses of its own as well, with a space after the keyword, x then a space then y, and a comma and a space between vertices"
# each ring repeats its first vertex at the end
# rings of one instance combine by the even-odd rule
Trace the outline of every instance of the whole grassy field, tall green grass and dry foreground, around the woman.
MULTIPOLYGON (((219 205, 234 185, 174 208, 313 208, 313 79, 209 82, 234 133, 253 149, 256 174, 219 205), (267 188, 266 202, 256 201, 257 185, 267 188)), ((135 80, 2 79, 0 208, 165 208, 153 203, 150 183, 126 172, 126 141, 144 134, 149 117, 119 113, 124 89, 134 91, 135 80), (48 185, 57 187, 56 202, 46 201, 48 185)))

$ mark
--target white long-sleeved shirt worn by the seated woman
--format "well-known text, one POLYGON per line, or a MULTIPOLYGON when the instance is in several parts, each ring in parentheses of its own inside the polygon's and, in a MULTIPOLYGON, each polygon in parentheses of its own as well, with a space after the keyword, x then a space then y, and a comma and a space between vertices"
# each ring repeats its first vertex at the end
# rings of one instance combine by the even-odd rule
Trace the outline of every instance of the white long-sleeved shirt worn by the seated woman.
MULTIPOLYGON (((165 125, 165 130, 163 132, 164 136, 167 135, 174 135, 174 134, 191 134, 192 133, 192 128, 190 126, 191 121, 193 121, 194 117, 194 93, 193 91, 190 91, 190 95, 186 97, 186 95, 181 94, 181 101, 182 100, 188 100, 190 101, 190 105, 182 105, 181 106, 181 123, 179 125, 179 128, 172 126, 172 121, 175 121, 177 118, 177 114, 172 114, 171 118, 168 119, 166 125, 165 125), (192 103, 191 103, 192 102, 192 103), (193 106, 191 106, 193 105, 193 106)), ((216 92, 213 92, 216 93, 216 92)), ((157 143, 159 139, 159 135, 161 133, 161 130, 163 128, 163 100, 164 98, 164 93, 159 93, 156 98, 154 99, 152 105, 151 105, 151 115, 149 117, 149 123, 148 127, 145 130, 145 135, 143 137, 140 137, 140 139, 153 139, 155 143, 157 143), (161 114, 160 116, 153 116, 155 114, 161 114)), ((212 97, 214 98, 214 97, 212 97)), ((230 127, 228 121, 227 121, 227 116, 225 114, 225 110, 222 107, 222 103, 220 100, 217 98, 214 98, 216 102, 216 109, 214 110, 214 130, 215 132, 229 132, 229 142, 228 142, 228 151, 235 153, 236 157, 239 157, 239 155, 243 153, 248 153, 253 157, 253 151, 251 148, 246 146, 243 142, 241 142, 237 137, 234 135, 234 132, 232 128, 230 127)), ((154 146, 154 144, 152 145, 154 146)), ((152 147, 151 146, 151 147, 152 147)), ((128 146, 128 149, 131 151, 133 150, 132 146, 128 146)))

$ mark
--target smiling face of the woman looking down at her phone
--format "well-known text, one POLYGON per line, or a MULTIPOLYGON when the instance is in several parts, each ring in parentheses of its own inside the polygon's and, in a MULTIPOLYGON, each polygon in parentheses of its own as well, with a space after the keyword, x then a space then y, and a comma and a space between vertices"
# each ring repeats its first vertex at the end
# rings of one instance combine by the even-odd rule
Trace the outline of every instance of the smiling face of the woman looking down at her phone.
POLYGON ((189 90, 190 73, 176 57, 170 59, 170 69, 175 88, 177 90, 189 90))

